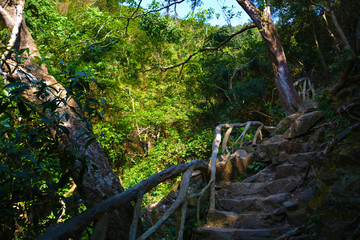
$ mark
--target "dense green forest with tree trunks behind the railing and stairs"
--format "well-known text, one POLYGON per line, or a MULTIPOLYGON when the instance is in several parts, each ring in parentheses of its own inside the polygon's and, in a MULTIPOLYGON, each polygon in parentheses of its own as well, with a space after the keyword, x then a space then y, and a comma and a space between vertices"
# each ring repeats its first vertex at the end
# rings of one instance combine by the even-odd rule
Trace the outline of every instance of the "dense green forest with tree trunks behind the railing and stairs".
MULTIPOLYGON (((285 88, 310 78, 319 108, 335 116, 329 86, 349 62, 358 66, 358 0, 238 0, 227 17, 250 3, 253 23, 221 27, 207 23, 211 10, 166 14, 182 2, 0 1, 0 238, 33 239, 172 165, 208 160, 218 124, 275 125, 309 106, 279 90, 283 64, 285 88), (7 17, 23 3, 25 20, 9 45, 16 23, 7 17), (31 86, 21 71, 36 76, 31 86), (96 159, 111 172, 100 175, 121 185, 91 202, 85 185, 100 176, 92 176, 102 165, 96 159)), ((143 204, 160 200, 176 180, 143 204)))

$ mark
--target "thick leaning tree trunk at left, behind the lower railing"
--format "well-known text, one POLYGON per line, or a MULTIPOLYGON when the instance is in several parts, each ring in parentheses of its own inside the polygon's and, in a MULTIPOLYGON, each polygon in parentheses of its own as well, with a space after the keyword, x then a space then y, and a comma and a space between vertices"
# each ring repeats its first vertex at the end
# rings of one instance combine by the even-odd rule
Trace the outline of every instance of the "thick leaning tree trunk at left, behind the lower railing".
MULTIPOLYGON (((42 65, 40 67, 35 65, 35 58, 40 57, 36 44, 26 27, 24 19, 24 5, 25 0, 14 1, 0 0, 0 26, 6 26, 9 29, 10 40, 7 43, 1 43, 4 47, 6 44, 6 51, 1 54, 2 64, 1 74, 5 81, 9 82, 23 82, 29 85, 29 89, 24 91, 23 97, 40 106, 49 100, 66 99, 67 92, 65 88, 60 85, 56 79, 48 74, 47 68, 42 65), (30 55, 28 58, 16 66, 16 61, 11 49, 29 49, 30 55), (9 67, 10 69, 9 69, 9 67), (13 69, 16 69, 12 72, 13 69), (47 86, 52 86, 54 90, 52 94, 36 96, 36 88, 33 85, 34 80, 43 79, 47 86)), ((101 149, 97 141, 92 142, 89 146, 86 143, 89 139, 95 136, 88 129, 83 121, 83 113, 74 100, 67 99, 67 103, 60 103, 56 110, 59 116, 62 117, 62 124, 68 129, 68 134, 58 136, 60 138, 59 151, 65 148, 84 154, 86 158, 86 166, 84 173, 81 172, 81 164, 79 161, 75 163, 73 177, 77 182, 81 198, 84 199, 89 207, 94 206, 110 196, 124 191, 119 183, 119 180, 113 173, 109 164, 108 158, 101 149), (72 110, 77 109, 77 114, 72 110), (79 114, 80 113, 80 114, 79 114), (86 134, 84 134, 84 132, 86 134)), ((51 118, 54 114, 48 113, 47 117, 51 118)), ((123 206, 120 209, 112 212, 108 216, 107 238, 108 239, 126 239, 132 219, 131 205, 123 206)))

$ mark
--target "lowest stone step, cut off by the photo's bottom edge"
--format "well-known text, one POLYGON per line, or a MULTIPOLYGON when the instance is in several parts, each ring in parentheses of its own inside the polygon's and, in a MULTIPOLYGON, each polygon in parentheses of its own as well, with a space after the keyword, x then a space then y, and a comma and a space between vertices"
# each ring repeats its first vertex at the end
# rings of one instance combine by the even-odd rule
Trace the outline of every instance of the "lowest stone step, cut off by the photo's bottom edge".
POLYGON ((195 240, 268 240, 291 230, 289 227, 264 229, 206 228, 200 227, 194 234, 195 240))

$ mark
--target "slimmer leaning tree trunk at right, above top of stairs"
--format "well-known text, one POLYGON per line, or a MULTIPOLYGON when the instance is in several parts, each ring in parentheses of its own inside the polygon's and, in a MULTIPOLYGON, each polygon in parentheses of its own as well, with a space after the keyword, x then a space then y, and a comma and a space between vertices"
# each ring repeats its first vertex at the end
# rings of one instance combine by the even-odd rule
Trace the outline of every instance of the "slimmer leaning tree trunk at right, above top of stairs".
POLYGON ((266 7, 262 14, 249 0, 237 0, 237 2, 253 20, 265 40, 270 53, 270 62, 275 74, 275 83, 283 108, 287 114, 296 112, 301 108, 301 102, 291 80, 285 52, 276 26, 271 20, 270 8, 266 7))

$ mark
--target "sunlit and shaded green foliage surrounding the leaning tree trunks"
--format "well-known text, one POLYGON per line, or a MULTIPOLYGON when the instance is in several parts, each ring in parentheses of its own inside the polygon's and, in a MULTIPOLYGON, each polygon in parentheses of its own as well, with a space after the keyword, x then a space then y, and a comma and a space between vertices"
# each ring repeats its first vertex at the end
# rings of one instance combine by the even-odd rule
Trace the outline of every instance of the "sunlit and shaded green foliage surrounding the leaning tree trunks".
MULTIPOLYGON (((45 63, 50 74, 77 99, 86 114, 83 120, 98 136, 126 189, 174 164, 194 158, 207 160, 213 130, 219 123, 260 120, 270 125, 284 117, 273 92, 273 70, 258 30, 233 38, 217 52, 202 52, 182 67, 157 71, 186 60, 203 47, 217 46, 242 26, 209 26, 206 20, 213 15, 211 9, 190 13, 185 19, 151 13, 128 22, 119 16, 132 16, 137 2, 126 2, 128 6, 113 0, 29 0, 25 10, 27 26, 43 55, 37 63, 45 63), (261 118, 264 114, 256 115, 256 111, 267 117, 261 118)), ((358 9, 356 1, 348 2, 358 9)), ((265 1, 257 3, 262 9, 265 1)), ((344 16, 342 26, 357 23, 357 18, 345 13, 338 2, 332 3, 336 14, 344 16)), ((270 4, 292 75, 296 78, 320 69, 314 36, 309 31, 312 28, 331 74, 338 75, 349 53, 337 50, 320 12, 309 1, 276 0, 270 4)), ((159 6, 154 2, 149 8, 159 6)), ((229 19, 234 17, 232 8, 224 10, 229 19)), ((145 11, 140 8, 138 13, 145 11)), ((0 31, 3 44, 8 37, 6 29, 0 31)), ((19 61, 24 51, 16 53, 19 61)), ((48 91, 41 80, 36 86, 39 95, 48 91)), ((59 217, 59 199, 70 187, 69 166, 83 156, 58 151, 57 135, 67 130, 58 118, 49 121, 35 111, 37 106, 21 97, 28 86, 1 87, 1 206, 4 221, 13 231, 16 219, 23 227, 19 237, 31 238, 59 217), (53 136, 50 129, 55 129, 54 137, 49 137, 53 136), (49 204, 42 215, 36 215, 34 209, 42 209, 45 203, 49 204), (29 223, 22 218, 24 212, 37 218, 29 223)), ((326 118, 333 118, 330 94, 318 90, 317 101, 326 118)), ((52 114, 56 108, 55 102, 49 102, 44 111, 52 114)), ((240 135, 242 129, 236 131, 235 135, 240 135)), ((250 129, 245 141, 254 131, 250 129)), ((235 141, 231 137, 229 144, 235 141)), ((254 162, 249 169, 259 171, 263 167, 254 162)), ((174 181, 147 194, 144 204, 160 200, 174 181)), ((70 209, 80 204, 76 197, 63 200, 70 209)))

